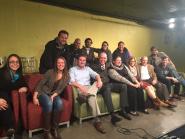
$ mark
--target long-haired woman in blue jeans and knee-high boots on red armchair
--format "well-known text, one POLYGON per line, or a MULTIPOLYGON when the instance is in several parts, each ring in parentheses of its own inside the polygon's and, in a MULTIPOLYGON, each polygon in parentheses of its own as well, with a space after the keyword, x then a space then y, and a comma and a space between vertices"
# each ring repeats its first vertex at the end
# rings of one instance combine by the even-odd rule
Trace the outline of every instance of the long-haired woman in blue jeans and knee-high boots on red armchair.
POLYGON ((60 95, 68 81, 69 74, 66 60, 59 57, 55 61, 54 69, 48 70, 44 74, 44 78, 39 82, 34 92, 33 103, 41 105, 43 110, 44 139, 52 139, 52 136, 54 139, 61 139, 57 130, 63 105, 60 95), (52 127, 50 127, 50 124, 52 127))

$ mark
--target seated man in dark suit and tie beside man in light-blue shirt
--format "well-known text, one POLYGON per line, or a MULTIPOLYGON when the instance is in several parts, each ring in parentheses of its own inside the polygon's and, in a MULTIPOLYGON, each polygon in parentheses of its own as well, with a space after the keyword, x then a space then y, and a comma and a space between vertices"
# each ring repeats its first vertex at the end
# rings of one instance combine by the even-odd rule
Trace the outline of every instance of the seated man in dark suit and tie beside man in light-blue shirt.
POLYGON ((106 62, 107 54, 105 52, 101 52, 99 55, 98 62, 92 66, 92 69, 95 70, 102 79, 103 86, 100 89, 100 93, 102 94, 104 101, 107 105, 107 109, 111 114, 111 123, 115 125, 116 122, 121 121, 121 118, 117 117, 114 113, 111 91, 116 91, 120 93, 120 105, 122 116, 128 120, 131 120, 131 117, 125 111, 125 108, 128 107, 127 86, 123 83, 109 82, 110 81, 108 77, 109 65, 106 62))

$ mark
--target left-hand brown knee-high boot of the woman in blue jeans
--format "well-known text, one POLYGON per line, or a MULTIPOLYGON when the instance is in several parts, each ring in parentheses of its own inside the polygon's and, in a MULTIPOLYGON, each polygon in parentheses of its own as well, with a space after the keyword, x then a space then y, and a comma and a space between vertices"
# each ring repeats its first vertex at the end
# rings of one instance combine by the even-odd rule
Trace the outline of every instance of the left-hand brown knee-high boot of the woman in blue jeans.
POLYGON ((50 113, 44 113, 43 114, 43 126, 44 126, 44 139, 52 139, 51 133, 50 133, 50 123, 51 123, 51 112, 50 113))

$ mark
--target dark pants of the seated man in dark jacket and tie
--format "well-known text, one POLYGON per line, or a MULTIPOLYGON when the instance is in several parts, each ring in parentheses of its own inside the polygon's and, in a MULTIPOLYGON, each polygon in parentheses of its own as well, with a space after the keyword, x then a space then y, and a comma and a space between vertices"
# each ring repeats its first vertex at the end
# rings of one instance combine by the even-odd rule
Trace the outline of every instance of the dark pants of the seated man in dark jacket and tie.
POLYGON ((122 110, 125 110, 125 107, 128 107, 127 86, 122 83, 107 83, 100 89, 100 93, 110 113, 114 111, 111 91, 120 93, 120 106, 122 110))

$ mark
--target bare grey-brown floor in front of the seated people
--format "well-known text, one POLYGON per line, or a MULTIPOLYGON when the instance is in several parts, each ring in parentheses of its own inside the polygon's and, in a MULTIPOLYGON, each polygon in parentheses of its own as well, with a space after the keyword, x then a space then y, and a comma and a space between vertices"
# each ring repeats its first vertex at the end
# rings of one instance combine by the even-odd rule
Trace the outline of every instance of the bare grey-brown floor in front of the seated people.
MULTIPOLYGON (((65 126, 60 128, 63 139, 139 139, 139 136, 144 136, 142 130, 135 130, 136 133, 124 135, 117 130, 119 127, 124 128, 143 128, 152 136, 158 137, 165 132, 175 129, 185 124, 185 102, 177 101, 178 107, 174 111, 161 108, 160 111, 150 109, 150 114, 145 115, 140 113, 140 116, 133 117, 128 121, 123 119, 118 123, 117 127, 111 125, 110 116, 102 116, 101 120, 107 131, 106 134, 98 133, 92 126, 92 120, 86 120, 79 125, 75 121, 69 128, 65 126)), ((147 139, 151 137, 146 136, 147 139)), ((42 132, 34 133, 32 139, 42 138, 42 132)), ((24 139, 28 139, 28 134, 24 134, 24 139)))

